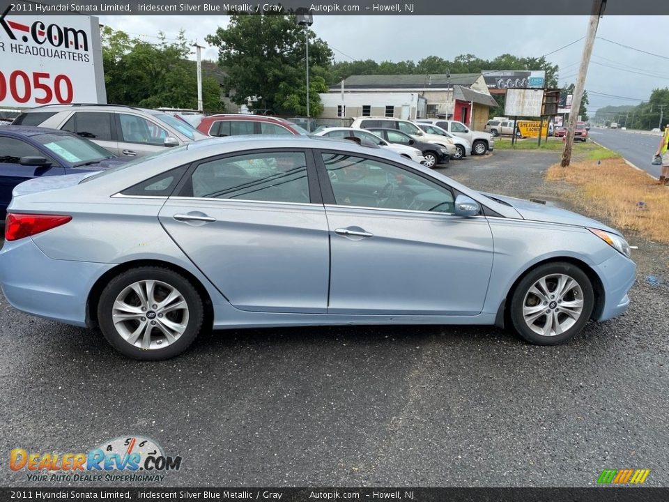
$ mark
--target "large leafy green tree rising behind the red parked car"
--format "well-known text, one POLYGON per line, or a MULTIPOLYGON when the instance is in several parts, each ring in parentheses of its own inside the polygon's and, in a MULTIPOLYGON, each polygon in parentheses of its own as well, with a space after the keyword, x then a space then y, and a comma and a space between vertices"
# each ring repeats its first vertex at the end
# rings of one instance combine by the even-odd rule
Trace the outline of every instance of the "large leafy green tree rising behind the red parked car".
MULTIPOLYGON (((323 75, 330 71, 332 51, 312 30, 307 33, 309 73, 314 73, 312 80, 318 84, 316 77, 325 81, 323 75)), ((218 28, 206 40, 218 47, 219 63, 227 73, 224 89, 236 91, 239 105, 252 98, 263 108, 298 112, 300 93, 306 95, 306 47, 305 29, 297 24, 294 15, 231 15, 228 27, 218 28)), ((309 86, 310 101, 311 95, 309 86)), ((303 102, 306 110, 306 101, 303 102)), ((318 102, 320 96, 314 93, 314 105, 318 102)))

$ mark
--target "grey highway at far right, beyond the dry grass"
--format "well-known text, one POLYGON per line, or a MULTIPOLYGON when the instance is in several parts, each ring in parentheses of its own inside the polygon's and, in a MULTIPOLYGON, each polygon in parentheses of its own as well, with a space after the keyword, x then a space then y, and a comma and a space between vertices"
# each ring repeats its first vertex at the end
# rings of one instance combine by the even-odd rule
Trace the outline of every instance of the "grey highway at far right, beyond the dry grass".
POLYGON ((650 163, 660 142, 659 133, 591 128, 589 135, 595 142, 617 151, 639 169, 659 178, 660 166, 650 163))

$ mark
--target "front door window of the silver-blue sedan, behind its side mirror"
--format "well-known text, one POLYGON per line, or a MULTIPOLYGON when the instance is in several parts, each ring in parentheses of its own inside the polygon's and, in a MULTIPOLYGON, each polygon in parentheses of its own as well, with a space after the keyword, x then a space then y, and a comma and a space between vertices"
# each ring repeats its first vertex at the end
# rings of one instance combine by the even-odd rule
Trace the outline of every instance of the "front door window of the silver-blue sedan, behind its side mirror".
POLYGON ((450 190, 379 160, 323 153, 337 205, 453 213, 450 190))

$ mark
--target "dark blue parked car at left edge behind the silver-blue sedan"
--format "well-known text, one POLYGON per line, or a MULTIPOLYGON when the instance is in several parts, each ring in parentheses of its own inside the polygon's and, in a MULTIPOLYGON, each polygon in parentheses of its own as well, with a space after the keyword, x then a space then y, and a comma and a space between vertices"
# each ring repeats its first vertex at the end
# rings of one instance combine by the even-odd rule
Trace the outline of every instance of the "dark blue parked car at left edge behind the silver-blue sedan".
POLYGON ((0 126, 0 218, 14 187, 37 176, 100 171, 131 158, 116 155, 70 132, 29 126, 0 126))

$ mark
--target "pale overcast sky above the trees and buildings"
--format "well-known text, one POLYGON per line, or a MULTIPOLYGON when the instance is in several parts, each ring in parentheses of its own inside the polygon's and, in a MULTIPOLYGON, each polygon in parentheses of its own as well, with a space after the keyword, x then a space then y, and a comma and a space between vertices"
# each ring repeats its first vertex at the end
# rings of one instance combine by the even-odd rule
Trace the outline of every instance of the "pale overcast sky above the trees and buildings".
MULTIPOLYGON (((150 42, 157 41, 159 31, 175 38, 183 29, 188 40, 206 45, 204 37, 215 33, 217 26, 226 26, 228 17, 100 16, 100 22, 150 42)), ((560 66, 562 86, 576 82, 584 44, 578 39, 585 36, 587 23, 587 16, 314 15, 312 29, 330 45, 337 61, 417 62, 426 56, 452 61, 461 54, 492 60, 506 53, 545 55, 560 66)), ((652 89, 669 87, 667 26, 669 16, 601 18, 585 81, 589 112, 606 105, 638 105, 649 98, 652 89)), ((203 57, 216 60, 217 50, 208 48, 203 57)))

